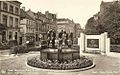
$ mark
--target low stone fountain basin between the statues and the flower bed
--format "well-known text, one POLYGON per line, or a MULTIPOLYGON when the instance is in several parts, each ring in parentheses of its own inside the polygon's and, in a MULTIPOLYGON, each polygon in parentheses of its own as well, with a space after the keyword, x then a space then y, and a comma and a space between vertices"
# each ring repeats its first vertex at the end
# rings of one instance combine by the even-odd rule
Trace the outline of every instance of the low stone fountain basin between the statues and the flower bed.
POLYGON ((75 60, 80 57, 79 50, 74 49, 62 49, 59 52, 58 49, 44 49, 40 51, 40 59, 48 59, 48 60, 75 60))

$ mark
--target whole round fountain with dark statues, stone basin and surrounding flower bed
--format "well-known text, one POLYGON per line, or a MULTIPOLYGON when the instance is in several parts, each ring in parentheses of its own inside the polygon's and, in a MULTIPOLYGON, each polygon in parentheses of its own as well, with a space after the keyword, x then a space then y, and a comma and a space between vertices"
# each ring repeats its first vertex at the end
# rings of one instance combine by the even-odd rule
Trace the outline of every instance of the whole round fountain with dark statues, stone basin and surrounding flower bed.
POLYGON ((70 70, 81 69, 93 65, 92 59, 80 57, 79 49, 72 48, 72 36, 68 38, 61 31, 56 38, 54 30, 47 33, 48 49, 40 50, 40 56, 29 58, 27 64, 43 69, 70 70))

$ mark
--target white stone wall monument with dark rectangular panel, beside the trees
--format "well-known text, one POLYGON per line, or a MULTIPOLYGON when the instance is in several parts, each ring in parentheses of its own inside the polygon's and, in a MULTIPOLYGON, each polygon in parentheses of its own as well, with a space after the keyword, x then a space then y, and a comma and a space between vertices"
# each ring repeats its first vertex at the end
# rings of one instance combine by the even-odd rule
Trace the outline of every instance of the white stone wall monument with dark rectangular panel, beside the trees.
POLYGON ((78 38, 78 45, 80 46, 80 54, 83 52, 100 54, 110 52, 110 38, 108 38, 107 32, 101 35, 85 35, 81 33, 80 38, 78 38))

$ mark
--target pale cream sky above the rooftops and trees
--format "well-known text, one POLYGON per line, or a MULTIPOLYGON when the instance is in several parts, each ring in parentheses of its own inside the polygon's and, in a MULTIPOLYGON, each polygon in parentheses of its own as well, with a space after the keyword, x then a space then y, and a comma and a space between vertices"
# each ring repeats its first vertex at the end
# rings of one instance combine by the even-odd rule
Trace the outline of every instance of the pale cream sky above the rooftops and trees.
MULTIPOLYGON (((73 19, 84 27, 87 20, 100 11, 102 0, 18 0, 25 6, 25 10, 31 9, 34 12, 57 14, 58 18, 73 19)), ((103 0, 105 2, 113 0, 103 0)))

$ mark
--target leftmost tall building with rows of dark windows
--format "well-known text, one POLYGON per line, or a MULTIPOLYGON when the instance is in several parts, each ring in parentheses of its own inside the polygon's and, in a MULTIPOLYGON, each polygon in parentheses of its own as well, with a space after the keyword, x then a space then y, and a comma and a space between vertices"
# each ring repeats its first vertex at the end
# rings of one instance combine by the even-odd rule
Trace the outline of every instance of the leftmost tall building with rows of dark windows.
POLYGON ((2 41, 19 42, 20 5, 19 1, 0 1, 0 23, 7 27, 2 32, 2 41))

